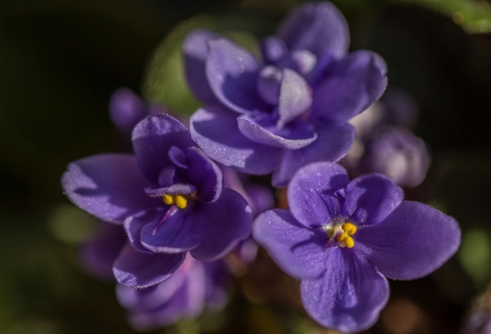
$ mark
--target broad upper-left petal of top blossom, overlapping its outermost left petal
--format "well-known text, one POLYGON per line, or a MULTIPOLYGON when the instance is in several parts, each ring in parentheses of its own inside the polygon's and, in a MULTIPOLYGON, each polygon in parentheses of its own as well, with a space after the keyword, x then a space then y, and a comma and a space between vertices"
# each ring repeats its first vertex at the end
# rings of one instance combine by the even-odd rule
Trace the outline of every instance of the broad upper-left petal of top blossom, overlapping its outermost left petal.
POLYGON ((206 75, 221 104, 238 112, 267 110, 256 90, 259 61, 228 39, 208 41, 206 75))

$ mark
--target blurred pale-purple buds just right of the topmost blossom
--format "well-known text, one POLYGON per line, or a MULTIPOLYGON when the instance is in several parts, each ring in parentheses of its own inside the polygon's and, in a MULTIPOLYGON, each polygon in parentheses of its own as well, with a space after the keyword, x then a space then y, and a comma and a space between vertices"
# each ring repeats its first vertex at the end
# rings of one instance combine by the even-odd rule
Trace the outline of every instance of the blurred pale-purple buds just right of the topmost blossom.
POLYGON ((417 108, 400 91, 388 91, 382 99, 351 119, 355 143, 340 164, 354 176, 384 174, 404 187, 420 184, 430 156, 424 142, 408 129, 417 108))

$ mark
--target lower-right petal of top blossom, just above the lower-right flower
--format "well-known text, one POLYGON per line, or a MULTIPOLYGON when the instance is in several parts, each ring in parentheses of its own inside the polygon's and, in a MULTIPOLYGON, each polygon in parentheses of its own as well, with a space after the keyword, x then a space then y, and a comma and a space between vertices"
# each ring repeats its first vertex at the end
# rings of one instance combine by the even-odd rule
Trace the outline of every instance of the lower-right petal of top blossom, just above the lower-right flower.
POLYGON ((337 162, 348 153, 355 138, 350 124, 318 126, 318 140, 300 150, 284 151, 282 162, 273 174, 273 186, 287 187, 294 174, 301 167, 316 162, 337 162))

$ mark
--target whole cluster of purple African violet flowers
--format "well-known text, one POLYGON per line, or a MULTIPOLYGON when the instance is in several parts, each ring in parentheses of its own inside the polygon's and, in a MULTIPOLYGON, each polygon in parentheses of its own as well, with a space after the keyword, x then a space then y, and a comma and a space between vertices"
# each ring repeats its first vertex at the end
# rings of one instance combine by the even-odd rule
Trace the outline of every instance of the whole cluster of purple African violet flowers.
MULTIPOLYGON (((336 164, 354 144, 349 121, 387 82, 380 56, 348 53, 348 46, 347 24, 328 2, 291 13, 261 43, 261 58, 214 32, 191 32, 182 46, 185 73, 204 106, 190 130, 129 91, 115 94, 111 118, 131 133, 133 154, 71 163, 62 187, 75 205, 113 224, 83 259, 94 273, 112 272, 135 327, 221 306, 228 274, 218 259, 252 261, 251 230, 301 279, 307 312, 346 332, 376 321, 388 299, 385 277, 424 276, 456 251, 455 219, 403 201, 386 176, 350 181, 336 164), (272 174, 274 187, 287 187, 289 208, 271 210, 271 191, 242 183, 237 171, 272 174)), ((373 145, 411 145, 393 133, 381 142, 373 145)), ((386 168, 399 169, 387 160, 386 168)), ((395 176, 384 168, 374 170, 395 176)))

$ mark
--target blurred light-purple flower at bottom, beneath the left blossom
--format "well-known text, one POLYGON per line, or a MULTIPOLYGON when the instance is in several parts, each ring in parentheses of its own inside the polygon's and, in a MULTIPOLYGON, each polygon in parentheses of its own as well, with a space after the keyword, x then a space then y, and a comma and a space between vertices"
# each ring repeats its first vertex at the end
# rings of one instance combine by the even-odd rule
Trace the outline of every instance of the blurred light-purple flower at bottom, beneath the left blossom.
POLYGON ((117 295, 131 324, 146 331, 197 317, 205 307, 221 308, 228 299, 229 278, 221 261, 201 262, 188 255, 166 281, 145 289, 118 285, 117 295))

